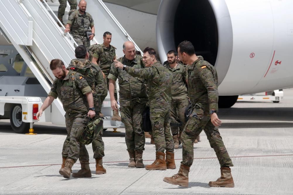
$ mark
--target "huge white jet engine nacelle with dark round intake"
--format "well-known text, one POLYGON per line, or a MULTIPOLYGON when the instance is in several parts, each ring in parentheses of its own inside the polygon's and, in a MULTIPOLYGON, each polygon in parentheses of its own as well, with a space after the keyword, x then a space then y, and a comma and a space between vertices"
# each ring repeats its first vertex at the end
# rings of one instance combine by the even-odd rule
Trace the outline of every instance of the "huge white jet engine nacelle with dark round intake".
POLYGON ((293 86, 292 0, 162 0, 158 52, 189 40, 215 65, 220 95, 293 86))

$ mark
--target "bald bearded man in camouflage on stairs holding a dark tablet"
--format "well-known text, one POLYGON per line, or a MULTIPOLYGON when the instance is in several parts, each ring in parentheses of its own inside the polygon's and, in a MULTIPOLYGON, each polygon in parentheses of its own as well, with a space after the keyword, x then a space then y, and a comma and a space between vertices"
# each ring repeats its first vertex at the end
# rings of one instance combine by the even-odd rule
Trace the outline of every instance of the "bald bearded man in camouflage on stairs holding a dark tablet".
POLYGON ((78 6, 79 9, 69 15, 64 32, 70 32, 78 45, 84 45, 88 48, 91 46, 90 41, 95 36, 93 18, 91 14, 86 12, 86 1, 79 1, 78 6), (71 26, 72 30, 70 30, 71 26), (93 33, 89 36, 89 39, 86 36, 86 32, 93 33))

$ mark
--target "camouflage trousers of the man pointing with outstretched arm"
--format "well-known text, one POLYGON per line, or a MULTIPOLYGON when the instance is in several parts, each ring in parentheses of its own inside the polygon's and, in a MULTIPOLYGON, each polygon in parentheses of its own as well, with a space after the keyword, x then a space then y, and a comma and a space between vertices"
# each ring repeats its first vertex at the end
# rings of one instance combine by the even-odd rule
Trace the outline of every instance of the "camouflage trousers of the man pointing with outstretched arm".
POLYGON ((156 151, 174 153, 174 141, 170 132, 170 108, 150 108, 152 135, 156 151))

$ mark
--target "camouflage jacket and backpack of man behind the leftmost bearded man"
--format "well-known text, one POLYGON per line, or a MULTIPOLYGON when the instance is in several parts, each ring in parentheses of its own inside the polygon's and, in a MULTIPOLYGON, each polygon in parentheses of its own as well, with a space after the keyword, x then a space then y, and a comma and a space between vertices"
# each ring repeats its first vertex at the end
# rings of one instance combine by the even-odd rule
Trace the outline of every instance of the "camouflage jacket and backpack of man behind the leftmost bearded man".
POLYGON ((72 69, 84 75, 88 85, 92 89, 94 107, 97 109, 97 111, 100 111, 100 96, 104 90, 104 78, 101 69, 96 64, 93 64, 89 60, 82 58, 72 59, 68 69, 72 69))

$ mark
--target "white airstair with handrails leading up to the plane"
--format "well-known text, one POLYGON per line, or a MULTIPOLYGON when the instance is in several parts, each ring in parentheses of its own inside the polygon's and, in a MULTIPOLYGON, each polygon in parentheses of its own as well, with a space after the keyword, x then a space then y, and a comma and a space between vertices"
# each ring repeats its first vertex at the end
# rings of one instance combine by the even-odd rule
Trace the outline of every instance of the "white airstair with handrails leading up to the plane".
MULTIPOLYGON (((103 33, 109 31, 113 34, 111 44, 116 46, 116 54, 122 56, 123 42, 131 37, 118 23, 112 13, 101 0, 87 0, 87 12, 91 13, 95 23, 96 37, 91 44, 103 41, 103 33)), ((25 64, 33 72, 41 86, 48 93, 50 91, 54 75, 49 65, 54 58, 61 59, 64 64, 69 64, 75 58, 74 48, 76 42, 69 33, 64 34, 64 27, 59 27, 57 22, 58 0, 0 0, 0 28, 6 39, 21 55, 25 64)), ((67 21, 69 4, 67 3, 66 13, 63 21, 67 21)), ((140 49, 135 44, 136 49, 140 49)), ((0 83, 1 85, 1 83, 0 83)), ((13 96, 0 96, 0 103, 13 103, 13 96)), ((53 102, 51 116, 47 117, 53 124, 65 124, 64 110, 59 99, 53 102)), ((1 104, 0 104, 1 106, 1 104)), ((4 108, 0 108, 1 110, 4 108)), ((119 128, 121 122, 111 121, 112 109, 109 96, 102 105, 102 112, 109 116, 104 120, 104 128, 119 128)), ((37 122, 37 120, 24 120, 23 122, 37 122)), ((47 121, 47 120, 46 120, 47 121)), ((123 125, 123 124, 122 124, 123 125)))

